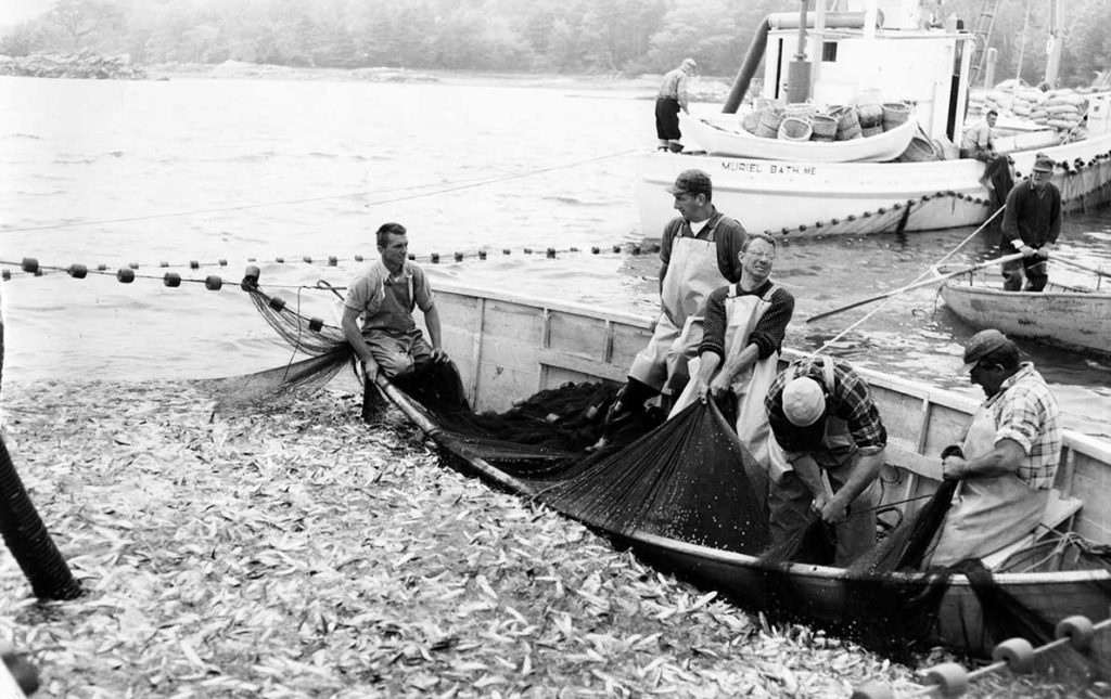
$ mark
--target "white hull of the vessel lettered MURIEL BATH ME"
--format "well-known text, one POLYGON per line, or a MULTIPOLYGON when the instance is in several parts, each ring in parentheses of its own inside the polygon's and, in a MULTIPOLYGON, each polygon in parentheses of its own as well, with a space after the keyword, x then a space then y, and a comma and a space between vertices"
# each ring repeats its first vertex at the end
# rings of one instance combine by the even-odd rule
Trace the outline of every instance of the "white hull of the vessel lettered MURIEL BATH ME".
MULTIPOLYGON (((1111 134, 1043 152, 1058 162, 1083 163, 1053 175, 1065 211, 1111 201, 1111 134)), ((1011 156, 1020 176, 1030 172, 1034 151, 1011 156)), ((980 183, 983 163, 975 160, 822 163, 654 152, 635 164, 645 237, 659 237, 674 217, 667 188, 691 168, 710 174, 719 211, 749 231, 791 237, 975 226, 991 214, 991 192, 980 183)))

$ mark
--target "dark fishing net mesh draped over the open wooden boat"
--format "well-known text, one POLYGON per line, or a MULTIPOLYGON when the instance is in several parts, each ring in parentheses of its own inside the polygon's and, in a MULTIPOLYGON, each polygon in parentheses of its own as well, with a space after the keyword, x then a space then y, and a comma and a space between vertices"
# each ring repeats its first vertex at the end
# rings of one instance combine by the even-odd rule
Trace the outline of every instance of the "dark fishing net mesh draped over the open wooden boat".
MULTIPOLYGON (((276 303, 246 284, 254 306, 288 343, 312 356, 288 366, 222 379, 223 405, 261 404, 298 388, 327 383, 353 353, 339 328, 276 303)), ((650 534, 760 558, 759 589, 742 605, 784 619, 808 619, 803 578, 790 565, 832 556, 828 526, 811 515, 790 541, 769 546, 763 474, 718 407, 694 403, 663 422, 648 411, 610 434, 608 446, 588 450, 602 435, 601 415, 613 403, 613 384, 567 384, 542 391, 503 413, 477 414, 462 399, 458 374, 444 367, 397 382, 420 397, 434 423, 433 437, 454 457, 479 458, 526 484, 552 508, 614 536, 650 534), (443 385, 450 384, 449 389, 443 385), (809 553, 807 553, 809 551, 809 553), (815 554, 815 551, 818 551, 815 554)), ((371 388, 368 396, 377 394, 371 388)), ((828 621, 865 646, 907 654, 934 629, 952 575, 968 575, 992 638, 1047 638, 1048 621, 1002 590, 979 561, 942 570, 918 570, 944 520, 953 484, 894 526, 843 576, 841 617, 828 621), (892 575, 894 574, 894 575, 892 575)), ((1070 543, 1090 567, 1111 566, 1111 551, 1070 543)), ((825 560, 811 563, 827 563, 825 560)), ((695 580, 698 579, 694 574, 695 580)), ((1111 592, 1111 590, 1109 590, 1111 592)))

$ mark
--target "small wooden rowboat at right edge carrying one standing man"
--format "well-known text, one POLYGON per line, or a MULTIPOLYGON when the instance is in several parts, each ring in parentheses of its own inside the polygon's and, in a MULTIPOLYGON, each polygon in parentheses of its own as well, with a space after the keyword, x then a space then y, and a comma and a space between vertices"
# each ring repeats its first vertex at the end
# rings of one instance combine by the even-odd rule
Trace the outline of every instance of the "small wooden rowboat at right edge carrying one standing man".
POLYGON ((1111 355, 1111 294, 1052 282, 1040 293, 1004 292, 998 284, 951 280, 941 297, 974 327, 1111 355))

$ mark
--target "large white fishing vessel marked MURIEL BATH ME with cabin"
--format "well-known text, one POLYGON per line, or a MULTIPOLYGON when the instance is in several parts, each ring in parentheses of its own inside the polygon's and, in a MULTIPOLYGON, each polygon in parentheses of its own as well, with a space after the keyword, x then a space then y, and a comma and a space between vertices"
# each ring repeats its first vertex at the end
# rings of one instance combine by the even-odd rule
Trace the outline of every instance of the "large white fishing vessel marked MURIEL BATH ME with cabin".
MULTIPOLYGON (((787 109, 865 98, 908 103, 922 135, 892 162, 827 162, 819 155, 824 144, 815 142, 813 154, 800 148, 787 158, 773 139, 761 139, 765 150, 743 155, 713 154, 723 149, 693 142, 691 152, 645 152, 637 156, 634 190, 647 237, 658 236, 674 215, 664 190, 690 168, 710 174, 714 204, 745 229, 792 237, 974 226, 992 213, 992 192, 981 182, 984 164, 957 159, 952 145, 963 134, 978 34, 929 26, 918 0, 839 2, 844 12, 817 4, 804 21, 785 12, 764 19, 722 112, 738 119, 762 63, 763 102, 787 109)), ((1055 75, 1049 64, 1047 75, 1051 70, 1055 75)), ((999 139, 1019 178, 1029 174, 1037 152, 1058 162, 1053 182, 1067 211, 1102 205, 1111 196, 1111 94, 1090 94, 1088 103, 1083 134, 1020 129, 999 139)), ((695 128, 690 135, 707 133, 695 128)))

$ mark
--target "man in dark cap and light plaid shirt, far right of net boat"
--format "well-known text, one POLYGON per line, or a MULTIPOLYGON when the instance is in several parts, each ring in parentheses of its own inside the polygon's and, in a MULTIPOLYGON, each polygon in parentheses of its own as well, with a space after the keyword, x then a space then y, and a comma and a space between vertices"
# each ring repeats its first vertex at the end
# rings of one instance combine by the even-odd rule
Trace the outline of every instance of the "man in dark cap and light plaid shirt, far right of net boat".
POLYGON ((947 448, 942 476, 960 479, 931 565, 983 557, 1038 526, 1061 454, 1057 399, 1033 364, 997 330, 964 346, 962 373, 983 388, 983 402, 960 445, 947 448), (959 448, 958 448, 959 446, 959 448))

